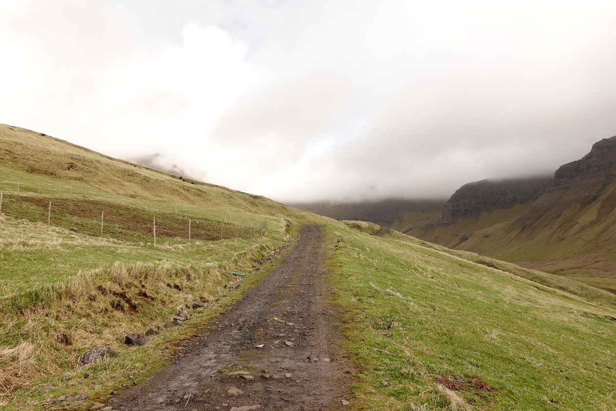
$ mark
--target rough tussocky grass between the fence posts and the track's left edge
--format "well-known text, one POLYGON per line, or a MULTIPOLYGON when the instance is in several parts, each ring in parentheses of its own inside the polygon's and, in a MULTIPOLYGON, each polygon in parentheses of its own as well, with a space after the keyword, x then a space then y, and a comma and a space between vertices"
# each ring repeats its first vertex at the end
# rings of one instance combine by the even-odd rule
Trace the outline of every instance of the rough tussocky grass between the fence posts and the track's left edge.
POLYGON ((68 391, 87 394, 86 407, 144 378, 192 328, 164 329, 139 348, 124 346, 127 333, 161 328, 177 306, 197 299, 213 305, 190 321, 216 314, 231 301, 224 285, 237 279, 229 271, 251 272, 251 262, 288 242, 294 229, 270 226, 263 237, 176 238, 155 246, 0 214, 0 233, 0 404, 38 410, 68 391), (100 345, 118 356, 78 365, 100 345))

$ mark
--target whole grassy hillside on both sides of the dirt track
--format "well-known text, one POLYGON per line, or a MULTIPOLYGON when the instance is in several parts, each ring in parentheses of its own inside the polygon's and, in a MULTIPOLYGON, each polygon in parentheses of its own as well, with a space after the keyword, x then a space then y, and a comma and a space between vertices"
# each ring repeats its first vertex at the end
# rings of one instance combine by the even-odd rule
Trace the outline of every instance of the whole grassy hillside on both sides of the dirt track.
POLYGON ((611 293, 1 127, 4 409, 54 409, 67 392, 87 395, 76 409, 89 409, 144 381, 265 275, 253 262, 304 222, 327 233, 332 303, 357 378, 349 409, 612 409, 611 293), (230 271, 247 274, 239 289, 230 271), (196 320, 163 327, 197 300, 208 308, 192 311, 196 320), (123 344, 150 327, 160 329, 150 343, 123 344), (117 355, 78 364, 100 345, 117 355))

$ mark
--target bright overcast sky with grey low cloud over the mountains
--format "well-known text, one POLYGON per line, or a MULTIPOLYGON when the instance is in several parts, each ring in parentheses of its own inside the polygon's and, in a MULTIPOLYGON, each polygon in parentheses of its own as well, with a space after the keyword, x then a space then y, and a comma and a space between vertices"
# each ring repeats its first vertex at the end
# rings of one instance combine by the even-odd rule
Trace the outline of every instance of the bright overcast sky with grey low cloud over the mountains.
POLYGON ((0 123, 279 201, 448 197, 616 134, 616 2, 0 0, 0 123))

